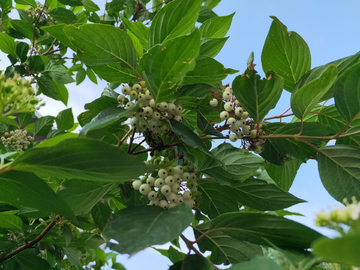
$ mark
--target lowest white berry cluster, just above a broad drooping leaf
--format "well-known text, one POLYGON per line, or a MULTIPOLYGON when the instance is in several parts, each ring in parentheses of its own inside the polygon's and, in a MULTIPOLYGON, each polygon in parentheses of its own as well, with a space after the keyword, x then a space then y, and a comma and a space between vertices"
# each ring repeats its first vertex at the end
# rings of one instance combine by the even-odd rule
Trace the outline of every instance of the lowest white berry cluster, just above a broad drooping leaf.
POLYGON ((196 197, 200 195, 197 178, 194 172, 184 172, 182 166, 169 166, 142 180, 135 180, 132 185, 147 196, 149 205, 170 209, 185 202, 194 207, 196 197))

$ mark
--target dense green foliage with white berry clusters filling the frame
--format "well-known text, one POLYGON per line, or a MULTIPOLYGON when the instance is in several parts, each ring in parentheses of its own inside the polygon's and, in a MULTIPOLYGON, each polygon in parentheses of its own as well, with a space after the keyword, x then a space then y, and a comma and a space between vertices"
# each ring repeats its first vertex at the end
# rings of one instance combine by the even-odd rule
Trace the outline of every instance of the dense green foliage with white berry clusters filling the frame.
POLYGON ((336 200, 360 200, 359 55, 310 69, 272 17, 266 77, 251 54, 223 85, 238 71, 214 59, 234 16, 219 2, 112 0, 101 15, 91 0, 0 1, 1 269, 124 269, 117 253, 169 241, 170 269, 359 266, 355 229, 327 239, 283 210, 304 202, 288 190, 309 159, 336 200), (34 119, 38 95, 67 105, 86 77, 108 86, 77 118, 34 119), (284 90, 292 111, 269 116, 284 90))

